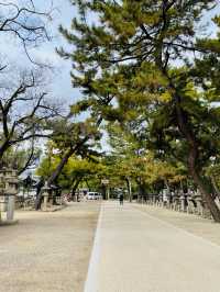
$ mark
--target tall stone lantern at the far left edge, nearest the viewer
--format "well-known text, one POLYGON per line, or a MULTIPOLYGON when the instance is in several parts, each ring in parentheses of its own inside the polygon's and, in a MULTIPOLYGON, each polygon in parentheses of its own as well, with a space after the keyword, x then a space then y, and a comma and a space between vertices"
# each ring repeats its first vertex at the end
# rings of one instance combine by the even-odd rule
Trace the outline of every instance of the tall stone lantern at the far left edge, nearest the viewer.
POLYGON ((18 173, 13 169, 0 169, 0 221, 6 213, 6 222, 13 222, 15 195, 19 189, 18 173))

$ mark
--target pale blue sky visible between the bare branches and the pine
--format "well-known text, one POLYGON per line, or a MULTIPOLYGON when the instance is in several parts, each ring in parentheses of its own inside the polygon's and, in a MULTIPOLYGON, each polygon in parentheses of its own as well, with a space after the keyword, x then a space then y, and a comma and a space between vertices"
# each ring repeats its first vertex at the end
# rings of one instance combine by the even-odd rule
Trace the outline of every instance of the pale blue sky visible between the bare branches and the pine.
MULTIPOLYGON (((14 2, 25 2, 25 0, 10 0, 14 2)), ((41 10, 48 10, 51 7, 51 0, 35 0, 37 8, 41 10)), ((53 41, 50 43, 42 44, 40 47, 34 48, 31 53, 32 56, 36 60, 48 61, 53 64, 53 77, 51 78, 52 83, 50 86, 51 94, 63 100, 64 104, 74 103, 79 97, 80 92, 77 89, 72 88, 70 83, 70 61, 63 60, 55 52, 55 47, 64 46, 67 47, 65 40, 58 33, 58 25, 63 24, 65 27, 70 26, 72 19, 76 15, 76 9, 73 4, 70 4, 69 0, 53 0, 55 11, 53 13, 53 21, 48 23, 48 29, 52 32, 53 41)), ((219 7, 207 13, 204 18, 204 22, 209 22, 209 32, 215 33, 215 26, 210 23, 210 19, 215 13, 220 12, 219 7)), ((1 38, 0 41, 1 54, 9 56, 9 61, 13 64, 13 66, 28 66, 30 61, 25 57, 24 52, 21 46, 18 46, 15 41, 12 37, 1 38), (10 54, 9 54, 10 52, 10 54)))

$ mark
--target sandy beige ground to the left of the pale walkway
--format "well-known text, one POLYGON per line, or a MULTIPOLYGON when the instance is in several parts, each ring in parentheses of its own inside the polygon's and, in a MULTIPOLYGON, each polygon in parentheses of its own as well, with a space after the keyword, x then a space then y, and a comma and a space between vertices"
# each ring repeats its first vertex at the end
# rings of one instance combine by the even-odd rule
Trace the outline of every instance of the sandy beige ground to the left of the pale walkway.
POLYGON ((18 225, 0 227, 0 291, 81 292, 99 206, 16 212, 18 225))

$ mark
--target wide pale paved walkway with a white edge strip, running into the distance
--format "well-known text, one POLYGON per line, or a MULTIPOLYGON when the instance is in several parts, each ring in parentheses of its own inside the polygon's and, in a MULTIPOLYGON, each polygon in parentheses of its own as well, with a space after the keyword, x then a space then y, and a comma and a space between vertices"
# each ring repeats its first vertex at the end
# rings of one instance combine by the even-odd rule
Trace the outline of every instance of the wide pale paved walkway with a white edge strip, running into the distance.
POLYGON ((220 247, 147 212, 106 202, 85 292, 219 292, 220 247))

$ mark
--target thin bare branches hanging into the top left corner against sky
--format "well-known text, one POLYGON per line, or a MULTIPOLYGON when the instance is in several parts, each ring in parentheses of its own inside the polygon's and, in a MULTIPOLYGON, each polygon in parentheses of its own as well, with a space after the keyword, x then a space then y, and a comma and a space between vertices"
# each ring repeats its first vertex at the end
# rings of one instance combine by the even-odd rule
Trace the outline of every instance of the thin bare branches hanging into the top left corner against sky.
MULTIPOLYGON (((52 1, 47 11, 41 11, 36 8, 34 0, 0 0, 0 36, 13 35, 21 42, 28 58, 36 64, 29 53, 29 47, 51 40, 46 24, 52 20, 53 11, 52 1)), ((4 67, 6 65, 0 66, 0 70, 4 67)))

